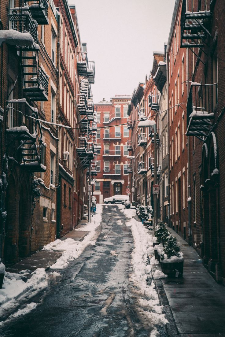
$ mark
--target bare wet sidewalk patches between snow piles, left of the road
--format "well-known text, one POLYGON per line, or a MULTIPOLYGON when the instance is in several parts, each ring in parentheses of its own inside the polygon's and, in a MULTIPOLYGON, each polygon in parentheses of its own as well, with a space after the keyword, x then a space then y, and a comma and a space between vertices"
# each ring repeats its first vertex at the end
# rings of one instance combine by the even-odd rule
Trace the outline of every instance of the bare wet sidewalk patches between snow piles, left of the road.
MULTIPOLYGON (((66 240, 68 238, 75 241, 82 241, 84 237, 89 233, 88 231, 79 231, 77 229, 84 227, 87 224, 87 220, 82 220, 71 232, 64 235, 60 240, 66 240)), ((29 279, 37 268, 44 268, 47 271, 51 265, 53 265, 57 259, 63 254, 63 251, 49 251, 39 250, 37 253, 31 256, 25 257, 16 264, 6 268, 6 272, 20 273, 22 270, 26 270, 23 273, 23 278, 29 279)))

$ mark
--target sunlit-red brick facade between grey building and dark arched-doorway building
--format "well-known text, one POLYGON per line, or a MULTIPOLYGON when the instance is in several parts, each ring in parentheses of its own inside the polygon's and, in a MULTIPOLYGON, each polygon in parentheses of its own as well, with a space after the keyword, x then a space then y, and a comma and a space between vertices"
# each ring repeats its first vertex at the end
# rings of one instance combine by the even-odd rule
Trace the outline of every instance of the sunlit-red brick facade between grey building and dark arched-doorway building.
POLYGON ((189 147, 186 136, 186 103, 190 75, 187 53, 180 48, 181 2, 176 1, 167 44, 169 109, 169 187, 171 226, 184 239, 191 237, 188 222, 190 196, 189 147))

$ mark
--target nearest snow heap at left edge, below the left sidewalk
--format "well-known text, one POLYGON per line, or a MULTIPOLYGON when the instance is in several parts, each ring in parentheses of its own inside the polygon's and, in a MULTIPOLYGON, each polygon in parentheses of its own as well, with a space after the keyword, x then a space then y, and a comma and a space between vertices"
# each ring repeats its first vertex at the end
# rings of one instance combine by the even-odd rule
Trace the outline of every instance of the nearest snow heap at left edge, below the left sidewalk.
POLYGON ((24 282, 20 279, 20 274, 5 273, 4 284, 0 289, 0 317, 3 317, 7 310, 16 308, 24 297, 27 300, 47 287, 49 277, 44 268, 37 268, 32 274, 31 278, 24 282))

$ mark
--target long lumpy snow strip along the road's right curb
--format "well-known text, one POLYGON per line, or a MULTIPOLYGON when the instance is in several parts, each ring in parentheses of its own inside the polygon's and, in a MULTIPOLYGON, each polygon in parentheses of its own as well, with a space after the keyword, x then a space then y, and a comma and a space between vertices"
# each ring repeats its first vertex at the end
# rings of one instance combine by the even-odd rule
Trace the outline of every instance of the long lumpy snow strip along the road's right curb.
MULTIPOLYGON (((140 221, 132 218, 132 216, 135 215, 135 210, 121 209, 121 211, 130 218, 127 222, 127 226, 131 226, 134 238, 134 249, 132 252, 133 272, 130 276, 130 280, 134 285, 134 291, 137 296, 137 314, 143 326, 152 327, 153 330, 150 336, 156 337, 159 336, 157 326, 165 326, 168 321, 162 313, 163 307, 160 306, 154 280, 151 280, 152 266, 158 264, 155 257, 151 255, 154 254, 154 237, 140 221), (147 254, 151 258, 150 265, 147 263, 147 254)), ((155 273, 156 276, 159 275, 159 271, 155 271, 155 273)), ((160 274, 161 277, 162 274, 160 274)))

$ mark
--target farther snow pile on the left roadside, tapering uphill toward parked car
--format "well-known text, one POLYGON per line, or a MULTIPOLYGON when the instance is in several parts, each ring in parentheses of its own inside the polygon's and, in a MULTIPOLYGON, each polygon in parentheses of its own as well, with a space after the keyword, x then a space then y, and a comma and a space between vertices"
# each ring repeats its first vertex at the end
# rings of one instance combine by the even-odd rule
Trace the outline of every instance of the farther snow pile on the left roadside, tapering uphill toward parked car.
POLYGON ((102 205, 96 205, 96 215, 92 218, 92 222, 84 226, 84 231, 90 231, 83 241, 74 241, 73 239, 60 240, 57 239, 46 246, 43 250, 61 250, 64 251, 62 256, 60 256, 56 263, 54 263, 51 269, 63 269, 68 266, 70 261, 75 260, 81 253, 85 250, 88 245, 95 244, 96 231, 95 229, 101 223, 102 205))

